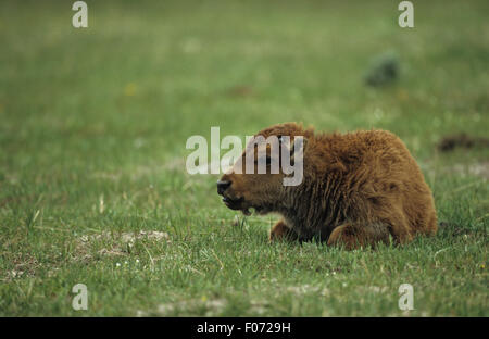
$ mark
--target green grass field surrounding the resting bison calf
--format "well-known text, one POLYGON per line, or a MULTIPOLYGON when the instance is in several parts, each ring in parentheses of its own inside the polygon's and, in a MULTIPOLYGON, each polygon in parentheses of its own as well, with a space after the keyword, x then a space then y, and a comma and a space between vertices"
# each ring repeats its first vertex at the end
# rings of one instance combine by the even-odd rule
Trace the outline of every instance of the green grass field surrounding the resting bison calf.
POLYGON ((488 316, 489 149, 437 143, 488 136, 489 2, 413 2, 400 28, 399 1, 88 0, 75 29, 73 1, 1 1, 0 315, 488 316), (384 52, 399 80, 366 87, 384 52), (269 244, 277 216, 187 174, 190 136, 289 121, 398 134, 439 234, 269 244))

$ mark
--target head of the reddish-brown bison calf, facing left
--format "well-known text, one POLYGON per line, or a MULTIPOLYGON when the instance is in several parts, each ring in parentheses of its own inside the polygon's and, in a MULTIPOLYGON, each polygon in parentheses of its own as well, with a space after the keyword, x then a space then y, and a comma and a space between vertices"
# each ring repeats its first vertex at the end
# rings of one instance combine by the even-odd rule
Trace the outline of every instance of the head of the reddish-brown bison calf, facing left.
POLYGON ((246 215, 250 209, 260 214, 278 212, 287 191, 302 181, 302 172, 297 175, 302 171, 306 135, 311 133, 293 123, 258 133, 217 181, 217 193, 226 206, 246 215))

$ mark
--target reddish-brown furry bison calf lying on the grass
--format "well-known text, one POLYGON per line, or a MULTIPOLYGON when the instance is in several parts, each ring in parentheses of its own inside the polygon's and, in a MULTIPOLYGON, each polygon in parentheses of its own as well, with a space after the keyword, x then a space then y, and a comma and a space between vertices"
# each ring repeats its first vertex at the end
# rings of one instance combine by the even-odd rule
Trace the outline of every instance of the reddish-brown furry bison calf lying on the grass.
MULTIPOLYGON (((281 171, 256 174, 255 168, 255 174, 238 174, 237 166, 244 161, 238 161, 217 181, 217 191, 229 209, 281 214, 271 240, 316 237, 354 249, 387 243, 390 237, 405 243, 416 235, 436 234, 431 191, 404 143, 391 133, 315 135, 288 123, 256 136, 303 136, 306 141, 303 180, 298 186, 284 186, 281 171)), ((269 153, 269 145, 264 147, 269 153)))

